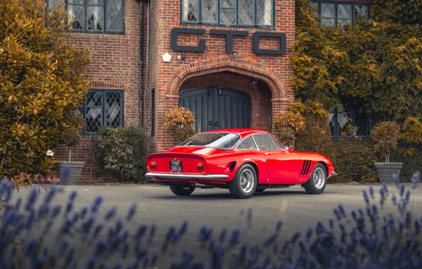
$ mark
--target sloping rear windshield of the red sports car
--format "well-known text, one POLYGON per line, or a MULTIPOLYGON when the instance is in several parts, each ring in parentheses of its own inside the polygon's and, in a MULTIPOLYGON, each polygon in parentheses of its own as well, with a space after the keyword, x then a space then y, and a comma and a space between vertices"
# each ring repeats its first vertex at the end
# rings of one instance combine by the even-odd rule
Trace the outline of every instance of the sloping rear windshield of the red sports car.
POLYGON ((230 132, 208 132, 194 135, 181 142, 180 147, 203 146, 216 149, 232 149, 241 139, 240 135, 230 132))

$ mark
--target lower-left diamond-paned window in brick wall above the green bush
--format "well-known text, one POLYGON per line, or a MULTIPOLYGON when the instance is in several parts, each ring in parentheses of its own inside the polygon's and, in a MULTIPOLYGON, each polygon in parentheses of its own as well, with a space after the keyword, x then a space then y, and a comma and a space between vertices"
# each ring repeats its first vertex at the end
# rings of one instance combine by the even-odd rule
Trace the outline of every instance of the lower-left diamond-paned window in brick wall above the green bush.
POLYGON ((109 90, 90 91, 80 110, 84 115, 87 134, 94 134, 102 127, 122 127, 123 92, 109 90))

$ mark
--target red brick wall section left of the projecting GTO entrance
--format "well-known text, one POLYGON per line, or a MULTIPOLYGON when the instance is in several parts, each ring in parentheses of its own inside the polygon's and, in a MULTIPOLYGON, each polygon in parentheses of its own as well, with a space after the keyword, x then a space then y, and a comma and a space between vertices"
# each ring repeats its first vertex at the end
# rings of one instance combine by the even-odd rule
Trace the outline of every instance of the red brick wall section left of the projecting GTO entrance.
MULTIPOLYGON (((69 43, 78 47, 89 46, 90 63, 84 74, 92 88, 124 90, 125 126, 139 125, 140 120, 140 4, 137 0, 125 0, 125 34, 72 33, 69 43)), ((111 173, 95 173, 95 136, 84 136, 73 151, 72 161, 85 161, 81 181, 112 181, 111 173), (91 173, 92 171, 92 173, 91 173)), ((67 151, 60 146, 57 159, 66 160, 67 151)))

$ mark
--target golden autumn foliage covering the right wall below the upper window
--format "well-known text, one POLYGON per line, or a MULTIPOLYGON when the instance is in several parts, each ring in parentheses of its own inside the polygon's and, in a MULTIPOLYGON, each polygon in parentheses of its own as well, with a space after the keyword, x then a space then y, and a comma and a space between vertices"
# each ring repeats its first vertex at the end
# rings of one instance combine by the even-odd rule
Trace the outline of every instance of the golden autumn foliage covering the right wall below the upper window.
POLYGON ((310 0, 296 1, 292 84, 300 101, 363 103, 370 120, 422 118, 422 2, 373 0, 371 18, 321 27, 310 0))

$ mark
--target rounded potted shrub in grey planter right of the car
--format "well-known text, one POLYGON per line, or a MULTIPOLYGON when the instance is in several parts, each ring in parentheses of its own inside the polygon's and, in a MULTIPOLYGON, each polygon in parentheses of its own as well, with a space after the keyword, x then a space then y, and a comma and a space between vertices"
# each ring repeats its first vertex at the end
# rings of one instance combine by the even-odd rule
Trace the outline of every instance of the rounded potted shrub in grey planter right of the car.
POLYGON ((399 176, 403 164, 392 163, 389 157, 397 150, 397 143, 401 138, 400 126, 396 122, 380 122, 372 130, 371 138, 375 142, 375 151, 384 159, 384 162, 375 163, 380 182, 394 183, 394 175, 399 176))

